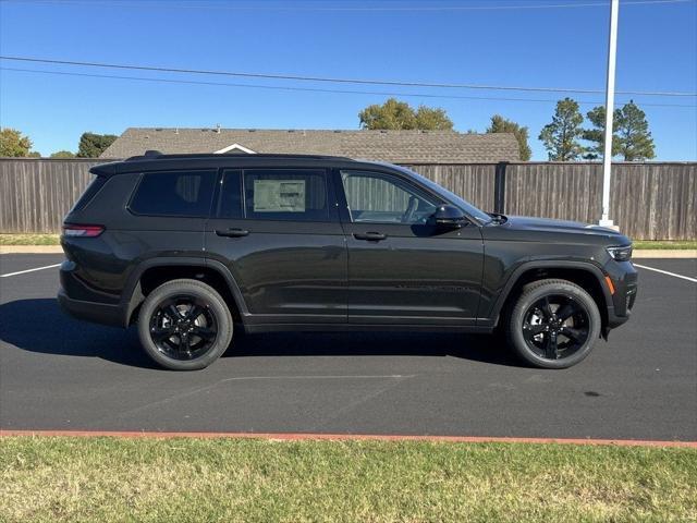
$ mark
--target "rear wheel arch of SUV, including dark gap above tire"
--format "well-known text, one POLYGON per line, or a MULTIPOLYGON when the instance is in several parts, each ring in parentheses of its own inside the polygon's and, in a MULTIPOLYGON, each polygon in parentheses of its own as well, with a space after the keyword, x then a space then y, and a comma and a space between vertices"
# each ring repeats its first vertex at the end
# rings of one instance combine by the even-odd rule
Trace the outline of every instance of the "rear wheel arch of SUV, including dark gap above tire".
POLYGON ((245 324, 248 311, 242 291, 223 264, 204 257, 156 257, 138 264, 127 279, 122 296, 124 327, 129 327, 137 317, 138 308, 154 288, 178 278, 191 278, 210 284, 229 304, 233 319, 245 324))

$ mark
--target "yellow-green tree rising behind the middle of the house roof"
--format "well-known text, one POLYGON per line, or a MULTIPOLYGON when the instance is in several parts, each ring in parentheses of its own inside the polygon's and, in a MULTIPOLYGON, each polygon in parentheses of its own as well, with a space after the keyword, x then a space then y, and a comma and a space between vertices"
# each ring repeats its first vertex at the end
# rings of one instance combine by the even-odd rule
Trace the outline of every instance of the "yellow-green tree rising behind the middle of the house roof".
POLYGON ((453 122, 443 109, 419 106, 415 111, 406 101, 389 98, 381 106, 366 107, 358 113, 363 129, 452 130, 453 122))

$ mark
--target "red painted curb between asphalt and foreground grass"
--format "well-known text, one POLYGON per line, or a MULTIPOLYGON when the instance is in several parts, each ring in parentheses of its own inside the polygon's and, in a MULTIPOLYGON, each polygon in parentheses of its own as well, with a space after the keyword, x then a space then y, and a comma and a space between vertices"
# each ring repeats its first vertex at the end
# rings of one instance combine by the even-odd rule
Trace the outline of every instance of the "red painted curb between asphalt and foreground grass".
POLYGON ((64 436, 115 438, 246 438, 269 440, 377 440, 377 441, 448 441, 457 443, 561 443, 615 445, 619 447, 687 447, 697 448, 697 441, 656 441, 641 439, 583 439, 583 438, 502 438, 488 436, 400 436, 380 434, 307 434, 307 433, 155 433, 129 430, 2 430, 3 436, 64 436))

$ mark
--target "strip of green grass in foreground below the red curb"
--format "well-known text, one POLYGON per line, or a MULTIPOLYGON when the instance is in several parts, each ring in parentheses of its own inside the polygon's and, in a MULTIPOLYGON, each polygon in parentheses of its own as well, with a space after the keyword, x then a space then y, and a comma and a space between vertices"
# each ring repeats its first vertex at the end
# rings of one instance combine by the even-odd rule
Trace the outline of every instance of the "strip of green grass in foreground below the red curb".
POLYGON ((5 437, 0 521, 696 521, 697 449, 5 437))

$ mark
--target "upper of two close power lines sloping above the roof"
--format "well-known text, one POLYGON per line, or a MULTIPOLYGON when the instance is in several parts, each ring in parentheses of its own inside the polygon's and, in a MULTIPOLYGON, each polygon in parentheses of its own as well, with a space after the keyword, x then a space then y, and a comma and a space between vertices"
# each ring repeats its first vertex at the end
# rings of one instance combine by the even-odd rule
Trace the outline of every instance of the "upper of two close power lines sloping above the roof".
MULTIPOLYGON (((577 89, 567 87, 514 87, 514 86, 501 86, 501 85, 476 85, 476 84, 442 84, 442 83, 429 83, 429 82, 403 82, 393 80, 360 80, 360 78, 340 78, 340 77, 327 77, 327 76, 301 76, 290 74, 277 74, 277 73, 246 73, 246 72, 233 72, 233 71, 216 71, 216 70, 197 70, 197 69, 179 69, 179 68, 163 68, 152 65, 130 65, 120 63, 106 63, 106 62, 83 62, 75 60, 52 60, 44 58, 33 57, 10 57, 0 56, 1 60, 12 60, 19 62, 34 62, 34 63, 52 63, 60 65, 78 65, 87 68, 108 68, 108 69, 125 69, 133 71, 155 71, 159 73, 185 73, 185 74, 206 74, 217 76, 236 76, 246 78, 265 78, 265 80, 289 80, 298 82, 323 82, 323 83, 337 83, 337 84, 360 84, 360 85, 392 85, 401 87, 432 87, 432 88, 449 88, 449 89, 481 89, 481 90, 519 90, 526 93, 579 93, 579 94, 602 94, 600 89, 577 89)), ((697 93, 686 92, 646 92, 646 90, 617 90, 620 95, 634 95, 634 96, 671 96, 671 97, 684 97, 684 96, 697 96, 697 93)))

